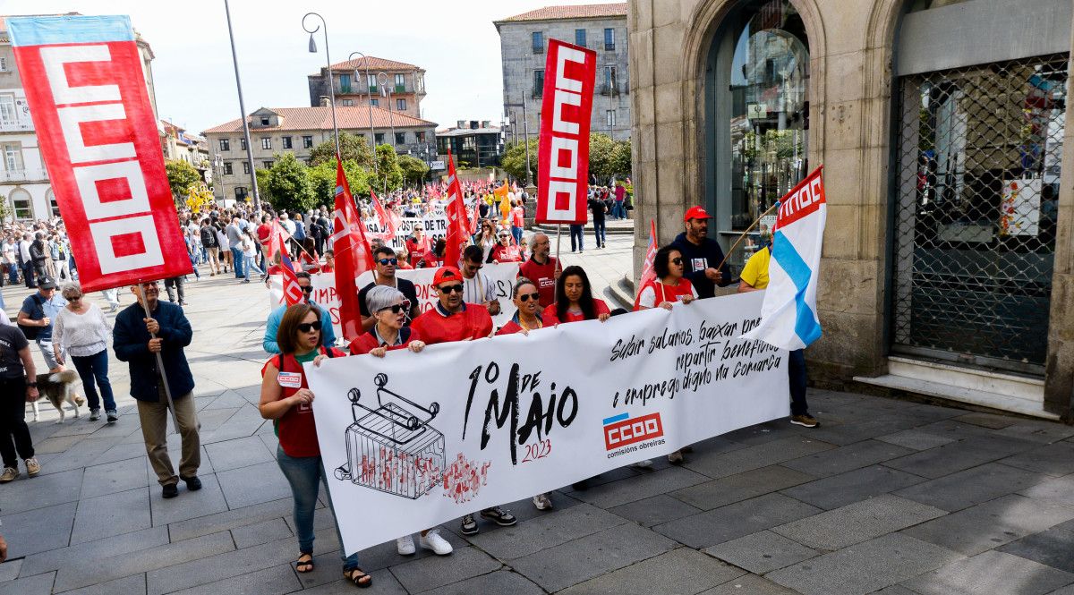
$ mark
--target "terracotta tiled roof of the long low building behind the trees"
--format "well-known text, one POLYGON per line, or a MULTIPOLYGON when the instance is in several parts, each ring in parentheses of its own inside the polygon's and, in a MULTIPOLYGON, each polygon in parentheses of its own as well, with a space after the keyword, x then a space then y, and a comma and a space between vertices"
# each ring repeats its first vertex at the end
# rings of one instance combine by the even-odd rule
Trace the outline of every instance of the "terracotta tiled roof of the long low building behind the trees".
MULTIPOLYGON (((287 132, 299 130, 332 130, 331 107, 271 107, 268 110, 279 114, 282 119, 280 126, 250 126, 251 134, 260 132, 287 132)), ((390 114, 388 110, 382 107, 373 107, 374 127, 388 128, 393 121, 395 128, 436 127, 435 122, 431 122, 429 120, 423 120, 421 118, 416 118, 398 112, 390 114)), ((336 124, 339 126, 340 130, 369 128, 369 106, 336 106, 336 124)), ((242 120, 235 118, 227 124, 209 128, 208 130, 205 130, 203 134, 211 134, 213 132, 242 132, 242 120)))

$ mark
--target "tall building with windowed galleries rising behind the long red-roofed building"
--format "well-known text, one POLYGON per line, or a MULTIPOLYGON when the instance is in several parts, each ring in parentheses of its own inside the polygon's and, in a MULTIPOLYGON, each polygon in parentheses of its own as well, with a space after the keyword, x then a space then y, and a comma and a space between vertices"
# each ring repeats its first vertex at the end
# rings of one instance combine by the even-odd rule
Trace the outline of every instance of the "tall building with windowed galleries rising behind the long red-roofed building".
MULTIPOLYGON (((323 105, 329 98, 329 69, 310 74, 309 104, 323 105)), ((368 56, 332 64, 336 105, 391 110, 397 114, 421 117, 421 100, 425 98, 425 70, 387 58, 368 56)))

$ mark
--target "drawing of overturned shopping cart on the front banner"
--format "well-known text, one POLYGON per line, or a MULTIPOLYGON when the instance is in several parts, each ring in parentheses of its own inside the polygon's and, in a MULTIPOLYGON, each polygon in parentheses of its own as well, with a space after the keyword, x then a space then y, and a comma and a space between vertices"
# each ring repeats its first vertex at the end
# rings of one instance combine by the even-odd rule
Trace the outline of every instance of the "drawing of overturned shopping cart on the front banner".
POLYGON ((378 374, 377 407, 361 403, 357 388, 347 393, 354 422, 347 426, 347 462, 335 469, 336 479, 351 481, 396 496, 421 497, 444 477, 444 434, 429 422, 440 410, 396 394, 384 386, 388 376, 378 374), (405 405, 383 402, 388 394, 405 405))

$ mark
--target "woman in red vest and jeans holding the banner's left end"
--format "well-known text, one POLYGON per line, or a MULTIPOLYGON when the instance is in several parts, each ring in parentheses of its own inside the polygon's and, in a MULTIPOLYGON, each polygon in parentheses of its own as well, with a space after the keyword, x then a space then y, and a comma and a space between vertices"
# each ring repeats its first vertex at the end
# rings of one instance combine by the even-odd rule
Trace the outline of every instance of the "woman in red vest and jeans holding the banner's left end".
MULTIPOLYGON (((314 393, 306 384, 304 363, 319 364, 324 358, 343 358, 343 351, 324 347, 321 311, 313 304, 287 308, 276 331, 279 355, 261 368, 261 401, 258 409, 264 419, 275 420, 279 434, 276 463, 291 485, 294 498, 294 526, 299 537, 295 570, 314 570, 314 509, 317 492, 326 480, 321 449, 314 422, 314 393)), ((325 489, 326 490, 326 489, 325 489)), ((330 499, 331 503, 331 499, 330 499)), ((338 531, 338 528, 337 528, 338 531)), ((337 534, 338 535, 338 534, 337 534)), ((343 539, 339 539, 343 542, 343 539)), ((358 554, 344 556, 343 574, 357 586, 366 587, 373 578, 358 567, 358 554)))

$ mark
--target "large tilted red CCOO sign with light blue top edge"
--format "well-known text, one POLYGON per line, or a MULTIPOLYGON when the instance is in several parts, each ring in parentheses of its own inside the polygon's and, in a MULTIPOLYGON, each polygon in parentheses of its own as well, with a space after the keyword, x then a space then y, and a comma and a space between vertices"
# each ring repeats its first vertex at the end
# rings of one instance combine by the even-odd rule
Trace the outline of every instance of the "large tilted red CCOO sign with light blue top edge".
POLYGON ((189 274, 130 18, 8 29, 83 291, 189 274))

